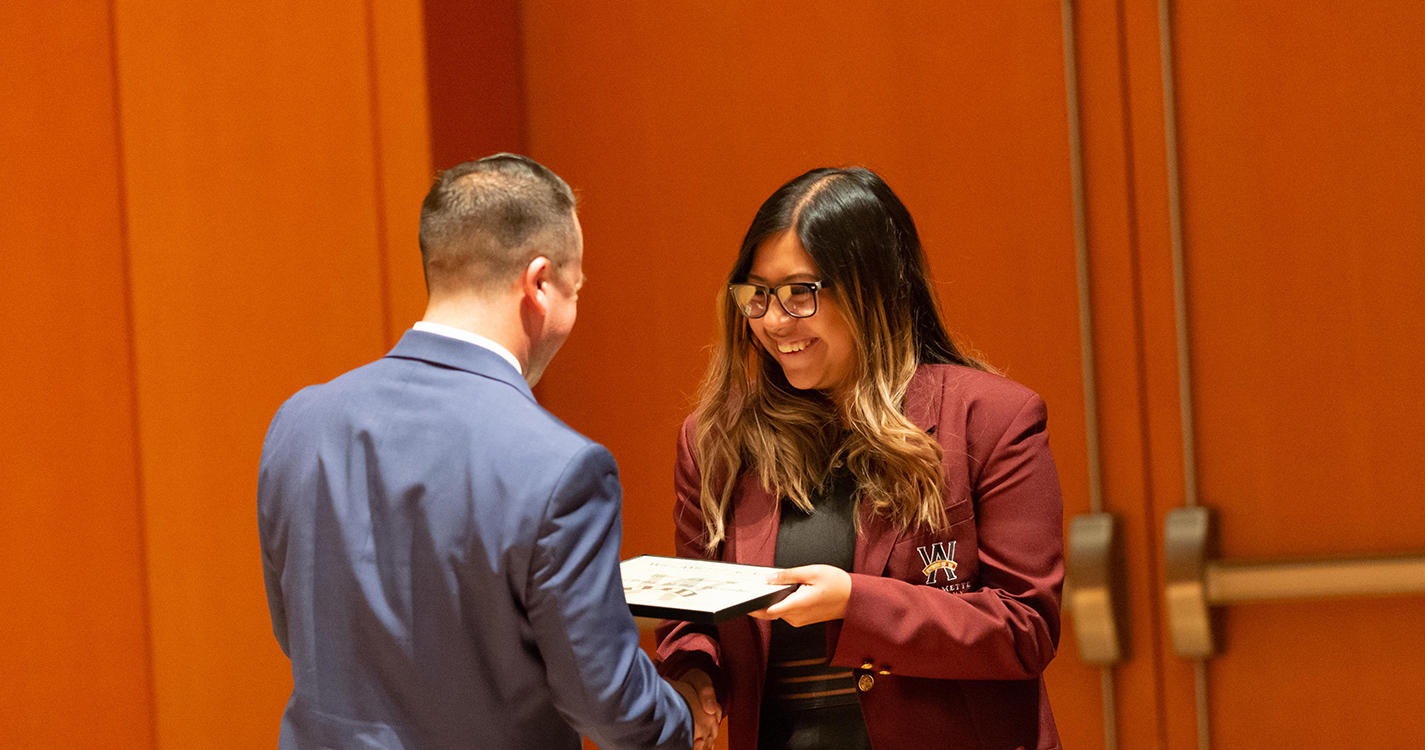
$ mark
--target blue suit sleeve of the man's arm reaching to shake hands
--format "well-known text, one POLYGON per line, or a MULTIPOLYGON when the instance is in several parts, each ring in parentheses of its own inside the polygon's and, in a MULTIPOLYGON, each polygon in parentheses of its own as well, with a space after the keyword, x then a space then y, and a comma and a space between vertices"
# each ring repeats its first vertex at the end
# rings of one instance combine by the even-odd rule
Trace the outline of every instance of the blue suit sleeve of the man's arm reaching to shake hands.
POLYGON ((526 605, 554 706, 606 750, 687 749, 693 717, 638 647, 618 573, 618 469, 603 446, 570 461, 540 523, 526 605))

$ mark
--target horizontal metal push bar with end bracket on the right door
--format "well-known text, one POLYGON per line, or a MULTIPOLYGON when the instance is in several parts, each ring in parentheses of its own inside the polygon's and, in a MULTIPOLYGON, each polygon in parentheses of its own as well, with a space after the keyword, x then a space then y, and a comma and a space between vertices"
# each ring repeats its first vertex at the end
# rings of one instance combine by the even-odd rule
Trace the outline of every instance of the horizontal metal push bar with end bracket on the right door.
POLYGON ((1190 659, 1217 653, 1211 607, 1244 602, 1425 593, 1425 555, 1321 560, 1221 560, 1207 508, 1178 508, 1164 519, 1167 619, 1173 650, 1190 659))

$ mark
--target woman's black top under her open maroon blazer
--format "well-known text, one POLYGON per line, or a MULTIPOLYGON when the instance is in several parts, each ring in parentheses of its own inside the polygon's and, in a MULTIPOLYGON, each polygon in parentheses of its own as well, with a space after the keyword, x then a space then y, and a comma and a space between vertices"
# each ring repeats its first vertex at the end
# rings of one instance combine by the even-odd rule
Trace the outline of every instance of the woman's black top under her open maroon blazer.
MULTIPOLYGON (((784 499, 777 566, 834 565, 851 572, 856 553, 856 481, 838 466, 812 496, 811 513, 784 499)), ((758 746, 764 749, 869 747, 849 669, 832 667, 826 623, 772 622, 758 746)))

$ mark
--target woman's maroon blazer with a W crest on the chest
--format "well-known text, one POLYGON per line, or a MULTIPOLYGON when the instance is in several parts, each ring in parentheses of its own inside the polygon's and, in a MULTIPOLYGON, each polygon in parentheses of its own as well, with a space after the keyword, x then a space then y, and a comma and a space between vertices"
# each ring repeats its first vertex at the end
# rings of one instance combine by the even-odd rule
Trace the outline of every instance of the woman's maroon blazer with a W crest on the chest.
MULTIPOLYGON (((949 526, 905 533, 862 509, 851 600, 828 623, 831 664, 849 667, 876 749, 1059 749, 1042 673, 1059 643, 1063 502, 1045 432, 1045 402, 1027 388, 955 365, 922 365, 906 416, 945 449, 949 526)), ((680 556, 705 558, 701 478, 678 436, 674 473, 680 556)), ((779 502, 738 478, 718 558, 772 565, 779 502)), ((757 747, 771 625, 658 626, 660 672, 712 676, 732 750, 757 747)))

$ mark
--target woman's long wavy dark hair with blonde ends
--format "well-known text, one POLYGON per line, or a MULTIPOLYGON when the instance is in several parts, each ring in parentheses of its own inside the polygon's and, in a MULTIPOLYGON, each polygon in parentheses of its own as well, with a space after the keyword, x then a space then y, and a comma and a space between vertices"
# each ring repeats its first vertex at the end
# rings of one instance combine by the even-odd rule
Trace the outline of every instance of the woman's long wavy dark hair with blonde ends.
POLYGON ((795 231, 846 315, 855 345, 851 382, 832 399, 788 384, 728 298, 721 341, 698 394, 694 451, 703 475, 704 546, 727 538, 737 478, 752 472, 777 496, 811 510, 812 493, 844 461, 858 502, 899 528, 945 525, 940 445, 903 413, 922 364, 989 369, 962 354, 940 319, 911 212, 875 173, 812 170, 777 190, 752 220, 728 282, 747 281, 752 254, 795 231))

